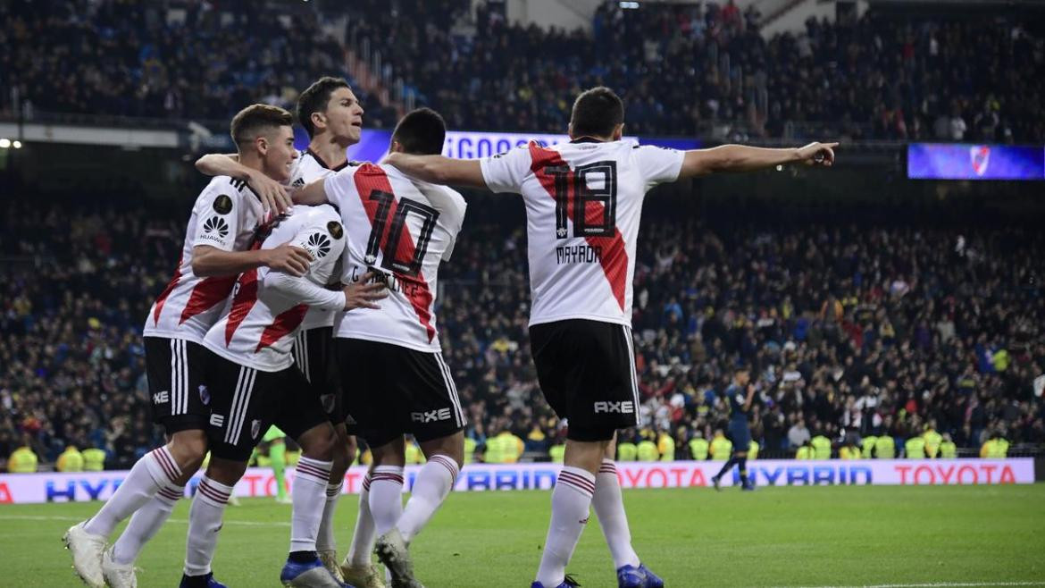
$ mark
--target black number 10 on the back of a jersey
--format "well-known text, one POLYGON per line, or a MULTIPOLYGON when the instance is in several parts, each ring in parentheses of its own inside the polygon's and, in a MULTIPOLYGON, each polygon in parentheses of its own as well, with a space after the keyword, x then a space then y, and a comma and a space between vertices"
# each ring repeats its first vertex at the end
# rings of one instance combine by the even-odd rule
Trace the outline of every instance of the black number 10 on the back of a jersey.
POLYGON ((373 228, 370 230, 370 238, 367 239, 366 263, 368 266, 377 262, 377 252, 381 252, 381 268, 410 277, 417 277, 421 273, 421 265, 424 263, 424 254, 428 251, 428 242, 432 240, 432 230, 436 227, 439 219, 439 210, 410 200, 399 199, 396 206, 395 196, 381 190, 370 193, 370 200, 377 201, 377 213, 374 214, 373 228), (395 214, 392 223, 389 224, 389 209, 395 206, 395 214), (413 249, 399 247, 402 240, 402 231, 407 230, 407 243, 414 240, 407 228, 407 216, 414 213, 421 219, 421 229, 417 233, 417 243, 413 249), (388 239, 382 239, 388 230, 388 239), (384 241, 385 247, 381 247, 384 241), (400 258, 400 256, 402 258, 400 258))

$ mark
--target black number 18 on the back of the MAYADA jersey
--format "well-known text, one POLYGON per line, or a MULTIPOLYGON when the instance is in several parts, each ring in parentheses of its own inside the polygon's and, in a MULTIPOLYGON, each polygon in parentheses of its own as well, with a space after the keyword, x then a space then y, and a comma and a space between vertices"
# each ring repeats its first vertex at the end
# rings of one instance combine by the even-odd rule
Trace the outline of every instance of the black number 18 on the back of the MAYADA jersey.
POLYGON ((565 165, 550 166, 544 167, 544 172, 555 178, 556 238, 570 238, 567 219, 574 223, 573 236, 613 236, 617 231, 616 161, 596 161, 574 169, 565 165))

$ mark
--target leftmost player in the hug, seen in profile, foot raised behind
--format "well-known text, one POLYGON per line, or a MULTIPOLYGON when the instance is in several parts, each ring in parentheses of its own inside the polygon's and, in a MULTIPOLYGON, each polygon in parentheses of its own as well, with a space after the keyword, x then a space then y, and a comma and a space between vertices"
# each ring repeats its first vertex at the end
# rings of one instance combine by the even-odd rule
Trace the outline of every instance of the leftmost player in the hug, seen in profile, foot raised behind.
MULTIPOLYGON (((236 114, 231 132, 243 165, 273 181, 288 178, 297 157, 292 121, 291 113, 266 105, 236 114)), ((257 268, 300 275, 308 267, 308 252, 292 245, 249 250, 259 208, 246 182, 228 176, 211 180, 192 206, 175 275, 149 310, 143 331, 153 419, 169 440, 135 463, 94 517, 66 533, 73 567, 89 586, 134 585, 135 558, 170 516, 207 453, 210 394, 201 344, 236 276, 257 268), (116 525, 132 514, 119 540, 104 549, 116 525)))

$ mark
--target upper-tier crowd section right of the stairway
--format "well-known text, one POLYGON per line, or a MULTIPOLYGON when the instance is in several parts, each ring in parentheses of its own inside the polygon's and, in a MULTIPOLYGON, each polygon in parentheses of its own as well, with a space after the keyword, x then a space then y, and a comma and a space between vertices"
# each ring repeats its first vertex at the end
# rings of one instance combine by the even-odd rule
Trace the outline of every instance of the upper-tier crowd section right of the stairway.
MULTIPOLYGON (((425 4, 401 5, 415 3, 425 4)), ((474 37, 379 10, 350 27, 375 46, 395 39, 381 47, 395 74, 457 128, 559 131, 573 96, 603 84, 622 91, 628 131, 638 135, 743 120, 753 136, 802 134, 786 128, 815 122, 854 138, 1045 137, 1042 100, 1020 97, 1043 96, 1040 80, 1017 72, 1045 63, 1042 31, 1035 37, 1024 23, 898 22, 868 12, 764 39, 760 18, 732 0, 640 9, 605 2, 591 36, 509 24, 485 5, 474 37)))

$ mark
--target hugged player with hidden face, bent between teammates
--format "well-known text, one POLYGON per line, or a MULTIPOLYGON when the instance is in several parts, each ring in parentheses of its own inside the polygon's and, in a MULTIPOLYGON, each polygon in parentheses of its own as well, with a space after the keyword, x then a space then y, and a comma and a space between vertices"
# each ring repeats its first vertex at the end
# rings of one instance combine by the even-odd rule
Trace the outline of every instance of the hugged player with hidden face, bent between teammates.
POLYGON ((289 241, 312 259, 302 277, 266 269, 241 274, 228 313, 204 337, 211 459, 189 511, 183 588, 207 585, 226 502, 272 425, 302 449, 291 492, 291 552, 280 581, 285 586, 341 586, 316 553, 336 437, 320 399, 294 367, 291 352, 310 307, 376 309, 384 286, 324 288, 346 242, 341 219, 328 205, 281 217, 271 231, 261 250, 289 241))

